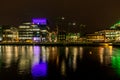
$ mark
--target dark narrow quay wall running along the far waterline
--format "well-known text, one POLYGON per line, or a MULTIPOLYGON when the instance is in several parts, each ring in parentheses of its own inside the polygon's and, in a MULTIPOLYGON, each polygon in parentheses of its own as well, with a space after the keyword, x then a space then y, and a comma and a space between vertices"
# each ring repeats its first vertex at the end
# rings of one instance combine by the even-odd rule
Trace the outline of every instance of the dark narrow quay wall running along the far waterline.
POLYGON ((41 46, 120 46, 120 43, 106 43, 106 42, 42 42, 42 43, 27 43, 27 42, 0 42, 0 45, 41 45, 41 46))

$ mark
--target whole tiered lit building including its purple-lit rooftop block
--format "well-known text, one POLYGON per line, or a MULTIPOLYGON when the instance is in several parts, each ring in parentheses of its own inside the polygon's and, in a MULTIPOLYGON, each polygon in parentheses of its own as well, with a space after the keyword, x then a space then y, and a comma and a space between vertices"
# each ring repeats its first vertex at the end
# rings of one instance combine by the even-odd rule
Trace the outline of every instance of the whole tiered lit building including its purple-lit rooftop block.
POLYGON ((46 18, 34 18, 32 22, 19 26, 19 39, 22 42, 43 42, 48 40, 48 26, 46 18))

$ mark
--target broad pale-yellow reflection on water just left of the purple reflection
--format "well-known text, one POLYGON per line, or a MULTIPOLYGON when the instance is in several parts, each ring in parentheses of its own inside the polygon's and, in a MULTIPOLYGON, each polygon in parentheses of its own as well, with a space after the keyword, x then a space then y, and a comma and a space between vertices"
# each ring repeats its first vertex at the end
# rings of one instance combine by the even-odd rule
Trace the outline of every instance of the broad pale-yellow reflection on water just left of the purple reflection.
POLYGON ((21 51, 19 51, 18 71, 19 74, 27 74, 29 73, 31 56, 33 54, 33 51, 31 50, 32 46, 21 46, 20 48, 21 51))

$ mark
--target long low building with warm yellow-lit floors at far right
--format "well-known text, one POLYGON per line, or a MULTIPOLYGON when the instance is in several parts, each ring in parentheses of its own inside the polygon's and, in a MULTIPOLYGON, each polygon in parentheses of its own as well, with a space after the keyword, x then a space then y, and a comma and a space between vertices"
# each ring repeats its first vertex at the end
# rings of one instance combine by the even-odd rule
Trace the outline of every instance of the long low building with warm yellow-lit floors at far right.
POLYGON ((120 30, 101 30, 94 34, 87 34, 87 40, 99 42, 120 41, 120 30))

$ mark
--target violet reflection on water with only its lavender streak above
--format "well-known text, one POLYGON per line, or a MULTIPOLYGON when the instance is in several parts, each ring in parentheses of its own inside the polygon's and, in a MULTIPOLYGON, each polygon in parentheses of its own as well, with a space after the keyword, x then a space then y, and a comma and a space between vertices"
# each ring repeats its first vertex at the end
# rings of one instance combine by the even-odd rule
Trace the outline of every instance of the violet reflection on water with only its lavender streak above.
POLYGON ((40 52, 40 47, 34 46, 34 60, 31 69, 33 78, 47 76, 47 62, 40 61, 40 52))

